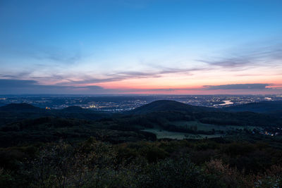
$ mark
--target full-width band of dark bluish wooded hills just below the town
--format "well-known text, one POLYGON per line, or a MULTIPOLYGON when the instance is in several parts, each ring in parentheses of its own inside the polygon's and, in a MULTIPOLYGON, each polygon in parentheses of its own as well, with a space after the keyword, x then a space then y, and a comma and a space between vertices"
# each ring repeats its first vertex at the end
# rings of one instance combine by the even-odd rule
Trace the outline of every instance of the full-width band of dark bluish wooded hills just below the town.
POLYGON ((128 122, 132 122, 136 118, 142 118, 142 120, 157 120, 162 118, 168 121, 196 120, 201 123, 213 125, 273 126, 282 124, 282 118, 278 111, 281 109, 280 104, 282 104, 281 101, 262 102, 259 104, 245 104, 219 109, 191 106, 178 101, 161 100, 120 114, 91 111, 80 108, 79 106, 70 106, 61 110, 48 110, 30 104, 8 104, 7 106, 0 107, 0 125, 27 118, 33 119, 52 116, 83 120, 114 118, 118 122, 124 119, 127 119, 128 122))

